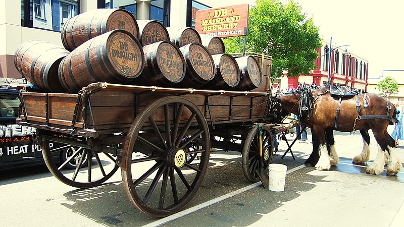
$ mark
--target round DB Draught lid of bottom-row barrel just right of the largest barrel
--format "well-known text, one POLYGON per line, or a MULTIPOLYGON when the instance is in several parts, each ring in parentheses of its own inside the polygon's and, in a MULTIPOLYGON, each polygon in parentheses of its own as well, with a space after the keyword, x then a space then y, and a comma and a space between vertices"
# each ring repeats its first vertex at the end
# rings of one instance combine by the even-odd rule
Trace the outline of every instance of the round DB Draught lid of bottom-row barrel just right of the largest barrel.
POLYGON ((171 82, 180 82, 185 75, 183 56, 172 42, 163 41, 157 48, 157 66, 161 73, 171 82))

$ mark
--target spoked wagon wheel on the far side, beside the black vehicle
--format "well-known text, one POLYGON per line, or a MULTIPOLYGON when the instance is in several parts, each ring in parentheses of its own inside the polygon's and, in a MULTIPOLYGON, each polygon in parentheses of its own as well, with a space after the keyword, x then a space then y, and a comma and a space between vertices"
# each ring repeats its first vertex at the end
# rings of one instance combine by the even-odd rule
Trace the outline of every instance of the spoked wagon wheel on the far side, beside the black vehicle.
POLYGON ((108 153, 91 152, 89 149, 71 145, 51 150, 48 140, 41 142, 41 148, 49 171, 59 181, 72 187, 96 187, 110 179, 119 168, 116 164, 116 157, 108 153), (61 157, 61 160, 65 161, 60 164, 55 163, 54 158, 57 155, 66 155, 66 157, 61 157), (72 165, 75 165, 76 168, 71 169, 72 165))

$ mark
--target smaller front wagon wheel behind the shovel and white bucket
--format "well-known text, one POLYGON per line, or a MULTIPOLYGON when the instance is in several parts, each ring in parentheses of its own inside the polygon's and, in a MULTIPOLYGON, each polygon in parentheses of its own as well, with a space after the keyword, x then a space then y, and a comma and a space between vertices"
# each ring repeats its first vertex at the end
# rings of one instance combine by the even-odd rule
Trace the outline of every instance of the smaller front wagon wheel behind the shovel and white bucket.
MULTIPOLYGON (((256 173, 256 169, 259 168, 260 163, 260 150, 259 150, 259 133, 257 127, 252 128, 244 141, 242 151, 242 167, 243 173, 247 180, 251 182, 259 182, 260 178, 256 173)), ((268 168, 268 165, 272 162, 272 156, 274 152, 272 132, 268 126, 263 125, 262 129, 262 152, 263 152, 263 167, 268 168)))

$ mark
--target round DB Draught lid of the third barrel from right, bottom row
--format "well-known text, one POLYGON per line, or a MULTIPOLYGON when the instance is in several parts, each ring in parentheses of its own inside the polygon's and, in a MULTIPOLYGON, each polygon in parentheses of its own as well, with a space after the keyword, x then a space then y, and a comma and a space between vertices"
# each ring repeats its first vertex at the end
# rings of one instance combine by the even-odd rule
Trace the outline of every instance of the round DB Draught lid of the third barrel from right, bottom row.
POLYGON ((195 76, 210 81, 215 76, 213 59, 208 50, 200 43, 187 44, 188 56, 185 56, 187 67, 195 76))

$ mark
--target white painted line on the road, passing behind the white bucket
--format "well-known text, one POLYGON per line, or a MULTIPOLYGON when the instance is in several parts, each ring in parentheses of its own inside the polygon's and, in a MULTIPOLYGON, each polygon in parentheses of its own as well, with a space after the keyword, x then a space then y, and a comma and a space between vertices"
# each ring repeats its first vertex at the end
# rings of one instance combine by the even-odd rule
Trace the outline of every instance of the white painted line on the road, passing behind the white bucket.
MULTIPOLYGON (((286 171, 286 174, 293 173, 293 172, 295 172, 295 171, 297 171, 297 170, 299 170, 299 169, 301 169, 301 168, 304 168, 304 167, 306 167, 306 165, 304 165, 304 164, 299 165, 299 166, 297 166, 297 167, 294 167, 294 168, 289 169, 288 171, 286 171)), ((260 186, 260 185, 262 185, 261 182, 257 182, 257 183, 248 185, 248 186, 246 186, 246 187, 244 187, 244 188, 241 188, 241 189, 238 189, 238 190, 236 190, 236 191, 233 191, 233 192, 227 193, 227 194, 225 194, 225 195, 219 196, 219 197, 217 197, 217 198, 214 198, 214 199, 212 199, 212 200, 206 201, 206 202, 201 203, 201 204, 199 204, 199 205, 193 206, 193 207, 188 208, 188 209, 186 209, 186 210, 182 210, 182 211, 180 211, 180 212, 178 212, 178 213, 171 214, 171 215, 168 216, 168 217, 161 218, 161 219, 159 219, 159 220, 157 220, 157 221, 148 223, 148 224, 143 225, 143 226, 150 226, 150 227, 151 227, 151 226, 159 226, 159 225, 165 224, 165 223, 167 223, 167 222, 169 222, 169 221, 172 221, 172 220, 174 220, 174 219, 180 218, 180 217, 182 217, 182 216, 185 216, 185 215, 190 214, 190 213, 192 213, 192 212, 195 212, 195 211, 197 211, 197 210, 203 209, 203 208, 205 208, 205 207, 207 207, 207 206, 213 205, 213 204, 218 203, 218 202, 220 202, 220 201, 222 201, 222 200, 228 199, 228 198, 230 198, 230 197, 233 197, 233 196, 235 196, 235 195, 238 195, 238 194, 240 194, 240 193, 242 193, 242 192, 248 191, 248 190, 253 189, 253 188, 255 188, 255 187, 257 187, 257 186, 260 186)), ((268 189, 268 190, 269 190, 269 189, 268 189)))

